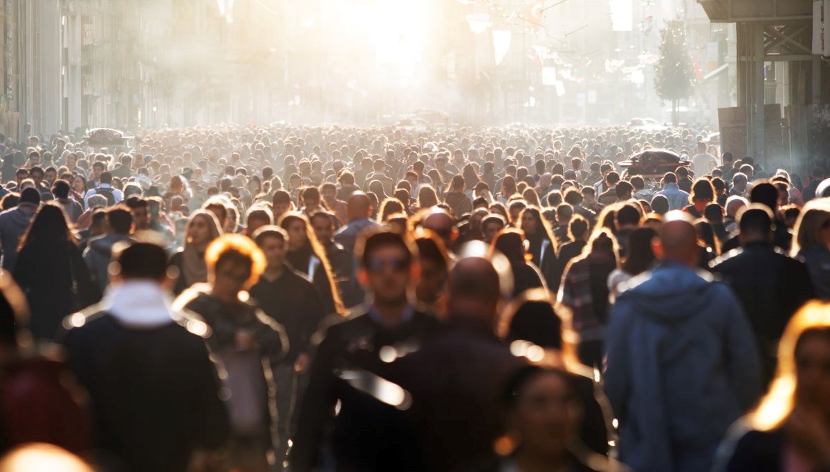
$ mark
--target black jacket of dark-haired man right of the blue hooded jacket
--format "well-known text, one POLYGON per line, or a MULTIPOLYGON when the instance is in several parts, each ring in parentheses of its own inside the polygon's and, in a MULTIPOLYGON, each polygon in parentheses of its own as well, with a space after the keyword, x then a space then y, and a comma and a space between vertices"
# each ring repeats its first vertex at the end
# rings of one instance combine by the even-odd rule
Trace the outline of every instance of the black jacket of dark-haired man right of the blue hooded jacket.
POLYGON ((710 267, 740 299, 761 350, 764 380, 769 382, 784 327, 815 293, 807 265, 760 242, 730 251, 712 260, 710 267))

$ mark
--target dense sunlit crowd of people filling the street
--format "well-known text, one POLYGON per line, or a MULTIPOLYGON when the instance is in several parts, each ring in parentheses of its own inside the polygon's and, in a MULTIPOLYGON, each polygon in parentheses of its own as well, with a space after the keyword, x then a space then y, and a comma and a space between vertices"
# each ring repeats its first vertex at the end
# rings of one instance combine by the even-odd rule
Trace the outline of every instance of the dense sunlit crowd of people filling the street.
POLYGON ((830 467, 821 165, 704 129, 0 140, 0 464, 830 467))

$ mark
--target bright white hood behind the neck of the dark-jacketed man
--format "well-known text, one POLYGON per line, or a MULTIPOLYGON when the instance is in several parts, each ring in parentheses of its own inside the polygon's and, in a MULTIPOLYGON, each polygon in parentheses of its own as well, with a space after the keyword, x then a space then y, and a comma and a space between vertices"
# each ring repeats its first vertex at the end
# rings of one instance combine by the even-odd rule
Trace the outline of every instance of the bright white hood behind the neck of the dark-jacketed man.
POLYGON ((158 328, 173 323, 173 300, 152 280, 110 285, 99 307, 131 328, 158 328))

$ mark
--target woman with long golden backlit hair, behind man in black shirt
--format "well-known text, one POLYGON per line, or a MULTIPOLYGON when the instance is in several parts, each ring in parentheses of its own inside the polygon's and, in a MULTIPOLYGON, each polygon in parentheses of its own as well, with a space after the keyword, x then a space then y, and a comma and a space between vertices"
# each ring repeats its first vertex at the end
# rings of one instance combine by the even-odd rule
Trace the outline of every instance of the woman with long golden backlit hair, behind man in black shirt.
POLYGON ((288 212, 280 220, 280 226, 288 233, 286 260, 295 270, 308 275, 320 291, 325 314, 344 314, 343 300, 334 285, 334 271, 329 258, 317 241, 308 218, 299 212, 288 212))

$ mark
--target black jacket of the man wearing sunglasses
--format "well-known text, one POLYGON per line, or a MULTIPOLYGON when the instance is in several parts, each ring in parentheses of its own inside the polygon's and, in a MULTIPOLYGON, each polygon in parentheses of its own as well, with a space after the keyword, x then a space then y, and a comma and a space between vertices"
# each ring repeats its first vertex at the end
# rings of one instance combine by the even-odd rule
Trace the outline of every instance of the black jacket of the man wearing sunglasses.
POLYGON ((416 430, 403 413, 359 391, 340 374, 363 367, 354 363, 355 350, 377 356, 384 346, 423 343, 435 332, 437 320, 416 310, 408 323, 389 329, 365 309, 360 313, 342 321, 334 319, 334 324, 321 330, 300 406, 292 470, 312 470, 326 444, 331 446, 336 470, 422 470, 416 430), (335 415, 338 401, 340 410, 335 415))

